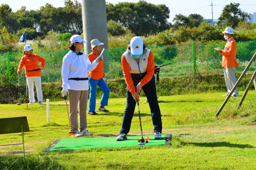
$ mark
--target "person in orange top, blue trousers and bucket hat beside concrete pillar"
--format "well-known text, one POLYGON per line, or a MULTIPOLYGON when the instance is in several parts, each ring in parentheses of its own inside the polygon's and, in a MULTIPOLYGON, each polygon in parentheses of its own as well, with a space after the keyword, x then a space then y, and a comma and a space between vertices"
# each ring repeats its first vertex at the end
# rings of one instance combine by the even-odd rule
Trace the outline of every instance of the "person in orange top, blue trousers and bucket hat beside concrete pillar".
MULTIPOLYGON (((94 39, 91 41, 92 52, 88 55, 88 59, 91 62, 100 55, 102 45, 104 45, 104 43, 101 43, 98 39, 94 39)), ((98 66, 93 71, 88 72, 88 76, 90 83, 88 115, 98 115, 98 113, 95 112, 97 86, 100 87, 100 89, 102 89, 103 91, 98 111, 108 113, 109 111, 106 110, 104 106, 108 105, 110 90, 108 88, 108 85, 106 84, 107 78, 104 73, 104 59, 99 62, 98 66)))

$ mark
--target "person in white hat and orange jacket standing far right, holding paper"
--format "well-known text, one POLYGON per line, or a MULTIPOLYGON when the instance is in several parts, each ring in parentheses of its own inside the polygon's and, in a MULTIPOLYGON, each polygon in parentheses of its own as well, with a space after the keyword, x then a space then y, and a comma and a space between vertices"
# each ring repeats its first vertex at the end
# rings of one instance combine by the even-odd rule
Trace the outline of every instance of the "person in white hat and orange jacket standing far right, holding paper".
MULTIPOLYGON (((233 29, 226 28, 224 32, 225 40, 227 40, 225 49, 218 50, 220 54, 222 54, 222 67, 224 68, 224 76, 225 76, 225 83, 228 89, 228 93, 223 95, 226 97, 230 95, 231 90, 233 89, 234 85, 236 84, 236 76, 235 76, 235 68, 238 67, 238 62, 236 61, 236 41, 233 38, 233 29)), ((238 97, 238 89, 236 87, 231 97, 238 97)))

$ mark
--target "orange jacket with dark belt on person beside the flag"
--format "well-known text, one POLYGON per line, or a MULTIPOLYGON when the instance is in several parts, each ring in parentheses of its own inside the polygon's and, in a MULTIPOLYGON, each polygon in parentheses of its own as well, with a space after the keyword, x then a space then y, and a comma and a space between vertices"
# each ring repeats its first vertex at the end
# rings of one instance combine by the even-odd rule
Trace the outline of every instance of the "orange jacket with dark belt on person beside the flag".
POLYGON ((33 77, 33 76, 41 77, 41 71, 30 71, 34 69, 39 69, 38 61, 42 63, 41 67, 44 68, 45 66, 44 58, 40 57, 37 54, 32 54, 30 55, 30 57, 28 54, 26 54, 23 57, 21 57, 20 65, 18 69, 21 70, 23 66, 25 66, 25 75, 27 75, 27 77, 33 77), (26 65, 26 60, 27 60, 27 65, 26 65))

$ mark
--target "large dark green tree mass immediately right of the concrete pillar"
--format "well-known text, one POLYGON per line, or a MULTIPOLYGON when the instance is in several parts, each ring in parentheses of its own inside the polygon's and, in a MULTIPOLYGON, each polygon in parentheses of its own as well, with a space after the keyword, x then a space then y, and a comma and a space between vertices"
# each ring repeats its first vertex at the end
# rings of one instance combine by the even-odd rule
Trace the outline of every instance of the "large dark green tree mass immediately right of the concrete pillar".
POLYGON ((163 4, 154 5, 140 0, 138 3, 106 3, 107 20, 123 23, 137 36, 148 36, 170 28, 170 10, 163 4))

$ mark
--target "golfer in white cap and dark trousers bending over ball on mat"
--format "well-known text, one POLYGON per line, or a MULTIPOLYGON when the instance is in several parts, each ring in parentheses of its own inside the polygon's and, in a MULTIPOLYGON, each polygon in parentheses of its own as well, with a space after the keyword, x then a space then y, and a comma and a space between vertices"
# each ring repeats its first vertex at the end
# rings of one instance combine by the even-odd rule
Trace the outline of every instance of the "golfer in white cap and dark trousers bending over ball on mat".
POLYGON ((150 107, 154 138, 161 139, 162 119, 156 96, 154 76, 154 55, 146 48, 142 38, 134 37, 127 45, 127 51, 121 57, 124 79, 127 84, 127 104, 124 111, 122 129, 116 140, 127 140, 132 117, 137 101, 140 101, 140 91, 143 89, 150 107))

